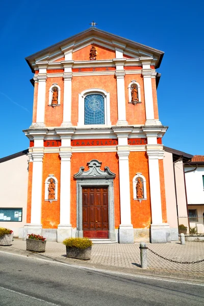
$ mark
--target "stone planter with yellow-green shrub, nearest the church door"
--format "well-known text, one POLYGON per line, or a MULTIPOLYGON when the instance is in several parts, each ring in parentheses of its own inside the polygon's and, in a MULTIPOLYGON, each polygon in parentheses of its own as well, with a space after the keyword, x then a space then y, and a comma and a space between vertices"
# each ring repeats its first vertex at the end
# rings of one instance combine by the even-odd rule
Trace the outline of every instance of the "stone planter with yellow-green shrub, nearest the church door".
POLYGON ((66 238, 67 257, 88 260, 91 258, 92 241, 88 238, 66 238))

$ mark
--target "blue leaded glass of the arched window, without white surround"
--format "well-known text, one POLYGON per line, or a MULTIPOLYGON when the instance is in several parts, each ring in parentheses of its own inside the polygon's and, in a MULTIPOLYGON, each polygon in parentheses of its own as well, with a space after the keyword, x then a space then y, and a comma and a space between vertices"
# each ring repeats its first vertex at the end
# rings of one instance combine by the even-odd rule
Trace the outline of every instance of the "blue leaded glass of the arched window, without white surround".
POLYGON ((84 124, 105 124, 104 97, 89 94, 84 99, 84 124))

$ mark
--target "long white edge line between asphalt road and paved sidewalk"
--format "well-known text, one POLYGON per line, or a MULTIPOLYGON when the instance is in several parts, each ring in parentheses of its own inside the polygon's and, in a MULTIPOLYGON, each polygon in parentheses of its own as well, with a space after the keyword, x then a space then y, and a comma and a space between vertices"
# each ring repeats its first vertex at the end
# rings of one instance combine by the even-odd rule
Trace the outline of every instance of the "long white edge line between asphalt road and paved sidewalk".
POLYGON ((80 266, 80 265, 74 265, 74 264, 69 264, 69 263, 62 263, 62 262, 58 262, 55 259, 43 259, 43 258, 37 258, 37 257, 31 257, 31 256, 26 256, 23 254, 15 254, 15 253, 10 253, 10 252, 5 252, 5 251, 0 251, 0 253, 5 253, 5 254, 10 254, 13 256, 20 256, 20 257, 25 257, 25 258, 30 258, 30 259, 36 259, 39 261, 43 261, 43 262, 48 262, 48 263, 52 263, 52 264, 57 264, 57 265, 63 265, 63 266, 69 266, 72 268, 77 268, 77 269, 84 269, 84 270, 91 270, 91 271, 95 271, 95 272, 103 272, 106 274, 113 274, 113 275, 119 275, 121 276, 121 274, 123 276, 131 276, 131 277, 135 277, 135 278, 144 278, 144 279, 154 279, 155 281, 162 281, 162 282, 168 282, 168 283, 177 283, 177 284, 187 284, 187 285, 193 285, 193 286, 200 286, 200 287, 204 287, 204 284, 198 284, 198 283, 191 283, 191 282, 186 282, 184 279, 181 279, 180 281, 174 281, 173 279, 166 279, 163 277, 152 277, 152 276, 143 276, 143 275, 138 275, 138 274, 132 274, 132 273, 125 273, 125 272, 117 272, 117 271, 112 271, 112 270, 106 270, 106 269, 98 269, 98 268, 92 268, 92 267, 85 267, 85 266, 80 266))

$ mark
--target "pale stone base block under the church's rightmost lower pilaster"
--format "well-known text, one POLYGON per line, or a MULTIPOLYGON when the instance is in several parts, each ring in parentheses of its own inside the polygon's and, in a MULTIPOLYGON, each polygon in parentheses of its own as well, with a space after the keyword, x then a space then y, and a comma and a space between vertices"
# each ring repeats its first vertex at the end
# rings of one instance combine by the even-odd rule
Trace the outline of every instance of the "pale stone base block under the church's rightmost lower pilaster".
POLYGON ((150 242, 151 243, 171 242, 171 233, 169 225, 167 223, 151 224, 150 242))

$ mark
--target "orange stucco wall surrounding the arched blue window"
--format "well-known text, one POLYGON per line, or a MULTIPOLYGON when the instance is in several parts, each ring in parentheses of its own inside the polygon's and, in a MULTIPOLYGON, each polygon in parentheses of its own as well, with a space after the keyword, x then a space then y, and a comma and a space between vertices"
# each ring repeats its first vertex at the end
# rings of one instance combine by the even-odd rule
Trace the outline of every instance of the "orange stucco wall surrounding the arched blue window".
POLYGON ((79 93, 85 89, 100 88, 110 92, 111 123, 117 122, 117 86, 114 75, 95 75, 87 77, 73 77, 72 79, 72 112, 71 122, 77 125, 79 112, 79 93))

